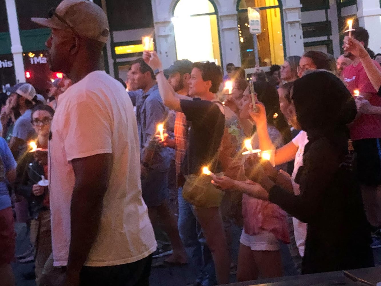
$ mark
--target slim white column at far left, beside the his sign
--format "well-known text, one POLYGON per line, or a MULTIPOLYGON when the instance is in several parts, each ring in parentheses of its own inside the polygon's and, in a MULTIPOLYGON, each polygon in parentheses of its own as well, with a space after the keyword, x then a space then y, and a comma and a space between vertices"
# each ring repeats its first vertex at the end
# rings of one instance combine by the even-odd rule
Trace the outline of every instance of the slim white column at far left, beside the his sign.
POLYGON ((22 46, 20 40, 19 23, 17 19, 16 3, 14 0, 5 0, 5 6, 6 13, 8 15, 9 33, 11 36, 11 51, 13 54, 16 82, 25 82, 24 60, 22 58, 22 46))

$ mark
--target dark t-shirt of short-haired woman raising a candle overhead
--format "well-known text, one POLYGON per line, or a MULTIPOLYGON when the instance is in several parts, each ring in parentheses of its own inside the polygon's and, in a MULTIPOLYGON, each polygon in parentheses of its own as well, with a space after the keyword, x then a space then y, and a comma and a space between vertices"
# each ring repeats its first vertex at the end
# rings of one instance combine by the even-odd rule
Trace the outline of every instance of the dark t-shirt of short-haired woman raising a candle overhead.
POLYGON ((180 106, 186 120, 191 122, 189 146, 182 163, 183 174, 199 174, 205 165, 210 166, 211 172, 220 172, 221 168, 216 164, 224 134, 224 114, 217 103, 200 98, 180 100, 180 106))

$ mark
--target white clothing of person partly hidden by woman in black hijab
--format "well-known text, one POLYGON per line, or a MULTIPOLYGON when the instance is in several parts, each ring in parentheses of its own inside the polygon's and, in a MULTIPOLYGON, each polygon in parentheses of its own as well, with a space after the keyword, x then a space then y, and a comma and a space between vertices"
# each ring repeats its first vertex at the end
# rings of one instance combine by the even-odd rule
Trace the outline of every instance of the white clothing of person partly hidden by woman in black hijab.
MULTIPOLYGON (((292 143, 298 147, 298 151, 295 155, 294 171, 292 172, 292 186, 294 193, 298 195, 300 194, 300 188, 299 184, 295 183, 295 177, 296 174, 298 174, 299 167, 303 166, 304 147, 308 143, 307 133, 302 130, 298 135, 295 136, 295 138, 292 140, 292 143)), ((303 257, 304 247, 306 246, 307 223, 301 222, 295 217, 292 218, 292 221, 294 225, 296 246, 298 246, 300 256, 303 257)))

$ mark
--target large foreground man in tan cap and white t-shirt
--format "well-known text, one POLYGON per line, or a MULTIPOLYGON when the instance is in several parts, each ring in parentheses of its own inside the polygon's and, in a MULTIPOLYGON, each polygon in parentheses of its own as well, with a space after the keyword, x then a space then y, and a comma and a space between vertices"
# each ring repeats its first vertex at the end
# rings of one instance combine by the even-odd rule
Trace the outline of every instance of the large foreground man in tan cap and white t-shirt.
MULTIPOLYGON (((62 285, 148 285, 156 241, 141 196, 139 138, 123 86, 102 69, 107 16, 64 0, 49 19, 52 71, 73 82, 51 126, 49 181, 54 266, 62 285)), ((56 281, 54 285, 61 285, 56 281)))

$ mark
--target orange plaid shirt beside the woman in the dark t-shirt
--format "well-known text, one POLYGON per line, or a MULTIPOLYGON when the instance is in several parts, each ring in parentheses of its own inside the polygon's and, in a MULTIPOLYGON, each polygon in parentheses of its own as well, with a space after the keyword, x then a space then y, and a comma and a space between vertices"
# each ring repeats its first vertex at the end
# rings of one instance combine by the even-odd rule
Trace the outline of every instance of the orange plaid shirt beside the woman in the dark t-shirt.
POLYGON ((176 176, 178 176, 180 174, 182 160, 184 159, 188 147, 188 123, 185 119, 185 114, 182 112, 176 112, 174 140, 176 144, 176 176))

